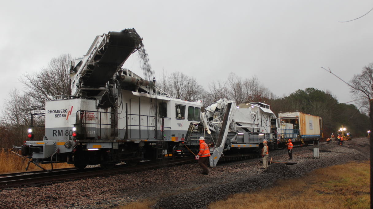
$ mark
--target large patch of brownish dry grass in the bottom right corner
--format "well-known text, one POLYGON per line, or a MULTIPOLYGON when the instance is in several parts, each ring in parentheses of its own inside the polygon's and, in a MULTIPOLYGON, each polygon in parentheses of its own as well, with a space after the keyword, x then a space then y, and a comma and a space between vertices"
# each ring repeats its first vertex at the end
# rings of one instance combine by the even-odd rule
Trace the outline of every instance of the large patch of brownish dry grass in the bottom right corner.
POLYGON ((269 189, 233 194, 209 209, 370 208, 370 162, 315 170, 309 176, 279 180, 269 189))

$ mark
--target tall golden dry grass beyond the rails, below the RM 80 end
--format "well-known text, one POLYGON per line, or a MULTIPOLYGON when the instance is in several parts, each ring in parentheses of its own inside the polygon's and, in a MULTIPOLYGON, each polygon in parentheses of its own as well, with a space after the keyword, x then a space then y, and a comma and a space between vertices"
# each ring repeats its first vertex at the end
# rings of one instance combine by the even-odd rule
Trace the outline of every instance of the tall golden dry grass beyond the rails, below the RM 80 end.
MULTIPOLYGON (((28 163, 28 158, 23 160, 23 158, 9 152, 8 149, 0 149, 0 173, 15 173, 26 171, 25 168, 28 163)), ((50 169, 50 164, 43 164, 41 167, 45 169, 50 169)), ((53 168, 70 168, 74 167, 72 164, 67 163, 54 163, 53 168)), ((42 170, 34 164, 30 164, 28 171, 42 170)))

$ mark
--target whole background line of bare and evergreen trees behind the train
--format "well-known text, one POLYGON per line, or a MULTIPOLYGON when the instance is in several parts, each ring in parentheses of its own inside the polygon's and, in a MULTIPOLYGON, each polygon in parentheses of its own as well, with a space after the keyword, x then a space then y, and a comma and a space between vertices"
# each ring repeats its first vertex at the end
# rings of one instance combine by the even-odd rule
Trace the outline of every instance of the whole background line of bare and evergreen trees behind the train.
MULTIPOLYGON (((4 102, 1 114, 0 147, 21 145, 27 140, 27 127, 31 124, 30 113, 44 113, 47 96, 70 94, 70 54, 53 58, 47 67, 39 72, 23 74, 19 80, 24 89, 12 89, 4 102)), ((197 101, 202 100, 208 106, 221 98, 235 100, 237 104, 265 102, 278 115, 282 112, 298 110, 306 114, 322 117, 324 137, 335 133, 342 125, 348 128, 354 137, 364 136, 369 129, 367 101, 373 95, 373 63, 363 67, 360 74, 354 75, 349 82, 351 94, 357 99, 355 105, 338 103, 332 92, 315 88, 300 89, 286 96, 277 97, 262 83, 256 75, 251 78, 230 73, 226 80, 212 80, 207 88, 199 84, 195 77, 182 72, 168 74, 162 71, 156 86, 172 97, 197 101)), ((44 126, 44 118, 35 116, 34 125, 44 126)), ((43 127, 35 128, 35 138, 42 138, 43 127)))

